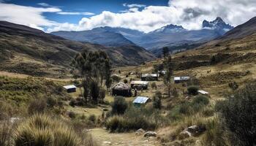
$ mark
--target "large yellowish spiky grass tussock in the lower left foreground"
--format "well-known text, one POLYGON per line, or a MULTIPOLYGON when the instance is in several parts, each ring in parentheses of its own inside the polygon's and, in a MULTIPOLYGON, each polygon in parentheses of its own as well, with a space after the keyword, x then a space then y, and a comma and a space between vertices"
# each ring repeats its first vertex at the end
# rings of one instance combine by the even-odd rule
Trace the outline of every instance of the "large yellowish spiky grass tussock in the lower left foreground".
POLYGON ((78 146, 81 139, 72 128, 47 115, 34 115, 18 126, 15 132, 16 146, 78 146))

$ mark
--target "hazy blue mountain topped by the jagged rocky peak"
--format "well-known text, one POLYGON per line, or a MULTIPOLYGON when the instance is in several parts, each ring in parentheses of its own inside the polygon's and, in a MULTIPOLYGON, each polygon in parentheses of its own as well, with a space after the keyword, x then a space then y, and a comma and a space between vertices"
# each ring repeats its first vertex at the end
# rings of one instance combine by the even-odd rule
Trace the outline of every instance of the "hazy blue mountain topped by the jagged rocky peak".
POLYGON ((222 18, 216 18, 211 22, 204 20, 202 29, 192 31, 170 24, 144 35, 137 45, 148 50, 156 50, 162 47, 198 44, 220 37, 232 28, 222 18))

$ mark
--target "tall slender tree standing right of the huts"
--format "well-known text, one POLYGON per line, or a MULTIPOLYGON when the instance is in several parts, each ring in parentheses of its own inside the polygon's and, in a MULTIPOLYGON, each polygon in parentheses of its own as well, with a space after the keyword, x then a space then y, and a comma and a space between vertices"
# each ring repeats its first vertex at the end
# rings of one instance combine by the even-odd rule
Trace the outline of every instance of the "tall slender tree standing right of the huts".
POLYGON ((168 97, 170 98, 170 91, 171 91, 171 77, 173 75, 173 64, 172 64, 172 58, 169 55, 168 57, 165 58, 163 62, 165 66, 165 75, 164 75, 164 83, 167 86, 168 90, 168 97))

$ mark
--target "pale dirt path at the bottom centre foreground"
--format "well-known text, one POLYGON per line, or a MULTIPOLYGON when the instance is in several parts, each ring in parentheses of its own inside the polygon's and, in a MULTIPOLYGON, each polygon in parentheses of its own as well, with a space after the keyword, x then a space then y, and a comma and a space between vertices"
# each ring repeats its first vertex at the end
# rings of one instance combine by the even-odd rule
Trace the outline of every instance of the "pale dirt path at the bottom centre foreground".
POLYGON ((109 133, 103 128, 94 128, 90 131, 91 135, 97 142, 102 145, 119 145, 119 146, 158 146, 157 138, 146 138, 143 135, 136 135, 135 132, 130 133, 109 133))

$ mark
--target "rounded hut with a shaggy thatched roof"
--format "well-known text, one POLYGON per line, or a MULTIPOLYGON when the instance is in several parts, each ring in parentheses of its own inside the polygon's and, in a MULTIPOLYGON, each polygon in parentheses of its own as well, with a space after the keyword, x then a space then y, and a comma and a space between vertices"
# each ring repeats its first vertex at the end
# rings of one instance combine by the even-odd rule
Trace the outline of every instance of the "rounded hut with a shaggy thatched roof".
POLYGON ((116 85, 113 85, 111 88, 112 96, 132 96, 132 88, 124 82, 118 82, 116 85))

